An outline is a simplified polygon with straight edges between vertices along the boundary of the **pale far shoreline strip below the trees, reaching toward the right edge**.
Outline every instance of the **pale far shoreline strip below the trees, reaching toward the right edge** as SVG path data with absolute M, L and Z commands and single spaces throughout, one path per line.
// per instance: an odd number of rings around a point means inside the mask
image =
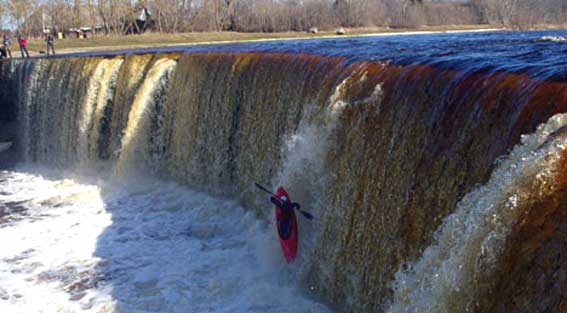
M 533 30 L 560 30 L 561 27 L 543 25 Z M 316 34 L 307 32 L 285 32 L 285 33 L 238 33 L 238 32 L 194 32 L 179 34 L 147 33 L 142 35 L 127 36 L 98 36 L 89 39 L 63 39 L 55 42 L 55 50 L 58 55 L 74 53 L 109 52 L 127 49 L 180 47 L 207 44 L 228 44 L 238 42 L 269 42 L 276 40 L 308 40 L 323 38 L 347 38 L 347 37 L 374 37 L 395 35 L 416 35 L 435 33 L 460 33 L 460 32 L 489 32 L 489 31 L 513 31 L 509 28 L 495 28 L 491 25 L 461 25 L 461 26 L 439 26 L 423 27 L 415 29 L 390 29 L 390 28 L 354 28 L 345 29 L 344 35 L 337 35 L 335 31 L 322 31 Z M 33 57 L 41 57 L 39 51 L 46 50 L 45 44 L 39 39 L 31 39 L 28 49 Z M 17 46 L 12 45 L 12 55 L 19 57 Z

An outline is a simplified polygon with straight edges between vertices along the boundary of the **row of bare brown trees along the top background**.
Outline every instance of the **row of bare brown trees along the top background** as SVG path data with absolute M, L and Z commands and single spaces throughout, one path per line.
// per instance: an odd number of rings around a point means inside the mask
M 567 0 L 0 0 L 3 28 L 28 36 L 79 27 L 124 34 L 566 21 Z

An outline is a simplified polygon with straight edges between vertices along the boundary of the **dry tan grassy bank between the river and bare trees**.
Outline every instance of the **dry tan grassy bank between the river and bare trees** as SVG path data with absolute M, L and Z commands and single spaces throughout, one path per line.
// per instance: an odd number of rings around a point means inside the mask
M 466 31 L 491 28 L 489 25 L 464 25 L 464 26 L 442 26 L 423 27 L 417 29 L 389 29 L 389 28 L 354 28 L 346 29 L 344 36 L 357 36 L 375 33 L 402 33 L 411 31 Z M 173 45 L 190 45 L 198 43 L 214 43 L 227 41 L 249 41 L 270 39 L 293 39 L 293 38 L 322 38 L 335 36 L 335 31 L 320 31 L 316 34 L 306 32 L 285 33 L 238 33 L 238 32 L 194 32 L 180 34 L 145 33 L 143 35 L 128 36 L 96 36 L 88 39 L 66 38 L 55 41 L 55 50 L 59 54 L 107 51 L 125 48 L 161 47 Z M 32 56 L 41 55 L 39 52 L 46 50 L 45 42 L 40 39 L 30 39 L 28 50 Z M 14 57 L 20 55 L 14 39 L 12 44 Z

